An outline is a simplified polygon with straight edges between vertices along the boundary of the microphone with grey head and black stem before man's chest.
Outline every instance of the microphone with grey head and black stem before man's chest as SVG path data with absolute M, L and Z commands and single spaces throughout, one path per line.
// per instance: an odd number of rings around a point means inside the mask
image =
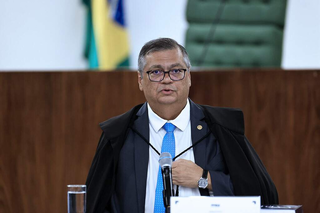
M 163 204 L 166 208 L 166 212 L 170 209 L 170 197 L 173 196 L 174 191 L 172 187 L 172 157 L 169 152 L 163 152 L 159 158 L 159 164 L 161 167 L 162 180 L 163 180 Z

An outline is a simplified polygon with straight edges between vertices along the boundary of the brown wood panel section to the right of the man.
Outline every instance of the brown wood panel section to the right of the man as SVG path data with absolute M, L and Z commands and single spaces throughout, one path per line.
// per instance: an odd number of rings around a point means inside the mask
M 320 72 L 238 71 L 192 75 L 197 103 L 241 108 L 246 135 L 281 204 L 320 212 Z

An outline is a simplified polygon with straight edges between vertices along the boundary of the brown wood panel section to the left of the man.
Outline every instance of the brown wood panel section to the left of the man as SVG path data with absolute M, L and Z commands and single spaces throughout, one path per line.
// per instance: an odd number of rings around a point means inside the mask
M 134 81 L 124 72 L 1 73 L 0 212 L 66 212 L 66 185 L 85 183 L 99 122 L 144 101 Z

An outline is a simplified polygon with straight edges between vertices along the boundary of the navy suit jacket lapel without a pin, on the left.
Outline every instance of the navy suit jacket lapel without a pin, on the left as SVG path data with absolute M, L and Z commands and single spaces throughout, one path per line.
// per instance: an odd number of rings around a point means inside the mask
M 133 128 L 149 141 L 149 119 L 146 103 L 137 113 Z M 149 145 L 137 134 L 134 137 L 135 177 L 138 198 L 138 210 L 144 211 L 146 182 L 149 162 Z

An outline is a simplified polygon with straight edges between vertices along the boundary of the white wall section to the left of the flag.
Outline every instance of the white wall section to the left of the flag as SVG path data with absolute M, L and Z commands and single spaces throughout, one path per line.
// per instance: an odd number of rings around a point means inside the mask
M 3 0 L 0 70 L 84 69 L 81 0 Z

